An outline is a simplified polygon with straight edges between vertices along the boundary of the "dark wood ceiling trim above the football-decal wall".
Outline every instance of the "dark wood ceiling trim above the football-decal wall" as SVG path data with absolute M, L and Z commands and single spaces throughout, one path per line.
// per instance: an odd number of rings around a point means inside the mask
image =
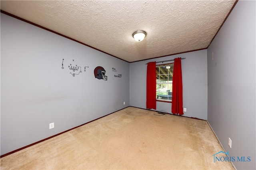
M 15 16 L 15 15 L 13 15 L 13 14 L 8 13 L 8 12 L 5 12 L 5 11 L 3 11 L 3 10 L 0 10 L 0 12 L 3 13 L 3 14 L 6 14 L 6 15 L 8 15 L 8 16 L 11 16 L 11 17 L 13 17 L 13 18 L 16 18 L 16 19 L 18 19 L 18 20 L 24 21 L 24 22 L 26 22 L 26 23 L 28 23 L 28 24 L 32 24 L 32 25 L 34 25 L 34 26 L 37 26 L 37 27 L 39 27 L 39 28 L 42 28 L 42 29 L 44 29 L 44 30 L 47 30 L 47 31 L 52 32 L 52 33 L 54 33 L 54 34 L 57 34 L 57 35 L 59 35 L 59 36 L 62 36 L 62 37 L 64 37 L 64 38 L 68 38 L 69 40 L 72 40 L 72 41 L 74 41 L 74 42 L 78 42 L 78 43 L 80 43 L 80 44 L 82 44 L 82 45 L 85 45 L 85 46 L 87 46 L 87 47 L 90 47 L 90 48 L 92 48 L 92 49 L 96 49 L 97 51 L 100 51 L 100 52 L 102 52 L 102 53 L 111 55 L 112 57 L 116 57 L 116 56 L 114 56 L 114 55 L 112 55 L 112 54 L 109 54 L 109 53 L 106 53 L 106 52 L 104 52 L 104 51 L 102 51 L 102 50 L 100 50 L 100 49 L 94 48 L 94 47 L 92 47 L 92 46 L 90 46 L 90 45 L 87 45 L 87 44 L 85 44 L 85 43 L 82 43 L 82 42 L 80 42 L 80 41 L 77 41 L 77 40 L 75 40 L 75 39 L 73 39 L 73 38 L 70 38 L 70 37 L 68 37 L 68 36 L 64 36 L 63 34 L 60 34 L 60 33 L 58 33 L 58 32 L 55 32 L 55 31 L 53 31 L 53 30 L 50 30 L 50 29 L 48 29 L 48 28 L 45 28 L 45 27 L 43 27 L 43 26 L 40 26 L 40 25 L 38 25 L 38 24 L 35 24 L 35 23 L 33 23 L 33 22 L 30 22 L 30 21 L 28 21 L 28 20 L 25 20 L 25 19 L 23 19 L 23 18 L 20 18 L 20 17 L 18 17 L 18 16 Z M 116 58 L 118 58 L 118 57 L 116 57 Z M 121 59 L 121 58 L 118 58 L 118 59 Z M 124 59 L 121 59 L 121 60 L 126 61 L 126 60 L 124 60 Z M 128 61 L 126 61 L 126 62 L 128 62 Z M 128 62 L 128 63 L 130 63 L 130 62 Z

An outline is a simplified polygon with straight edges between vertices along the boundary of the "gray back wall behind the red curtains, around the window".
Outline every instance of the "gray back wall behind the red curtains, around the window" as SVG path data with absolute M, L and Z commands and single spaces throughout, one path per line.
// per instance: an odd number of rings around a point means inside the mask
M 146 109 L 146 72 L 150 61 L 185 57 L 182 63 L 183 116 L 207 120 L 207 50 L 130 63 L 130 105 Z M 165 62 L 172 63 L 173 61 Z M 161 63 L 157 63 L 161 64 Z M 172 103 L 156 102 L 156 110 L 171 113 Z M 153 110 L 153 109 L 152 109 Z

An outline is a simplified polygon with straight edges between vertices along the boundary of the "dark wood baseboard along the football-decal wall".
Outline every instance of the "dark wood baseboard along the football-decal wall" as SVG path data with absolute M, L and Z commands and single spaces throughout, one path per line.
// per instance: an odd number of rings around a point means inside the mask
M 128 107 L 129 107 L 129 106 L 128 106 Z M 125 108 L 127 108 L 127 107 L 125 107 Z M 123 109 L 125 109 L 125 108 L 123 108 Z M 118 111 L 121 111 L 121 110 L 123 110 L 123 109 L 120 109 L 120 110 L 118 110 Z M 116 112 L 118 112 L 118 111 L 115 111 L 115 112 L 113 112 L 113 113 L 116 113 Z M 112 114 L 112 113 L 109 113 L 108 115 L 111 115 L 111 114 Z M 102 117 L 106 117 L 106 116 L 108 116 L 108 115 L 105 115 L 105 116 L 102 116 Z M 92 121 L 90 121 L 90 122 L 87 122 L 87 123 L 91 123 L 91 122 L 93 122 L 93 121 L 96 121 L 96 120 L 98 120 L 98 119 L 101 119 L 102 117 L 99 117 L 99 118 L 94 119 L 94 120 L 92 120 Z M 40 143 L 40 142 L 43 142 L 43 141 L 45 141 L 45 140 L 48 140 L 48 139 L 53 138 L 53 137 L 55 137 L 55 136 L 58 136 L 58 135 L 60 135 L 60 134 L 66 133 L 66 132 L 68 132 L 68 131 L 70 131 L 70 130 L 73 130 L 73 129 L 75 129 L 75 128 L 78 128 L 78 127 L 81 127 L 81 126 L 83 126 L 83 125 L 86 125 L 87 123 L 84 123 L 84 124 L 79 125 L 79 126 L 77 126 L 77 127 L 74 127 L 74 128 L 68 129 L 68 130 L 65 130 L 65 131 L 60 132 L 60 133 L 58 133 L 58 134 L 54 134 L 53 136 L 50 136 L 50 137 L 48 137 L 48 138 L 39 140 L 38 142 L 34 142 L 34 143 L 29 144 L 29 145 L 27 145 L 27 146 L 24 146 L 24 147 L 22 147 L 22 148 L 18 148 L 18 149 L 16 149 L 16 150 L 13 150 L 13 151 L 11 151 L 11 152 L 8 152 L 8 153 L 6 153 L 6 154 L 3 154 L 3 155 L 0 156 L 0 158 L 2 158 L 2 157 L 4 157 L 4 156 L 7 156 L 7 155 L 10 155 L 10 154 L 13 154 L 14 152 L 18 152 L 18 151 L 20 151 L 20 150 L 22 150 L 22 149 L 28 148 L 28 147 L 30 147 L 30 146 L 33 146 L 33 145 L 35 145 L 35 144 L 38 144 L 38 143 Z

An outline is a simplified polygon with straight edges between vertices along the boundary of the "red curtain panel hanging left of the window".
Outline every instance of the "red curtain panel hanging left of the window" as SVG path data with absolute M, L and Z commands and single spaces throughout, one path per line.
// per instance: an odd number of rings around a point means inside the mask
M 156 61 L 149 62 L 147 67 L 147 105 L 156 110 Z

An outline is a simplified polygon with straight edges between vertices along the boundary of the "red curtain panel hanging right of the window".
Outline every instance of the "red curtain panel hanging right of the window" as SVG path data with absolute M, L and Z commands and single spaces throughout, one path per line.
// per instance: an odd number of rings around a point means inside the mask
M 174 59 L 172 77 L 172 113 L 183 115 L 181 58 Z

